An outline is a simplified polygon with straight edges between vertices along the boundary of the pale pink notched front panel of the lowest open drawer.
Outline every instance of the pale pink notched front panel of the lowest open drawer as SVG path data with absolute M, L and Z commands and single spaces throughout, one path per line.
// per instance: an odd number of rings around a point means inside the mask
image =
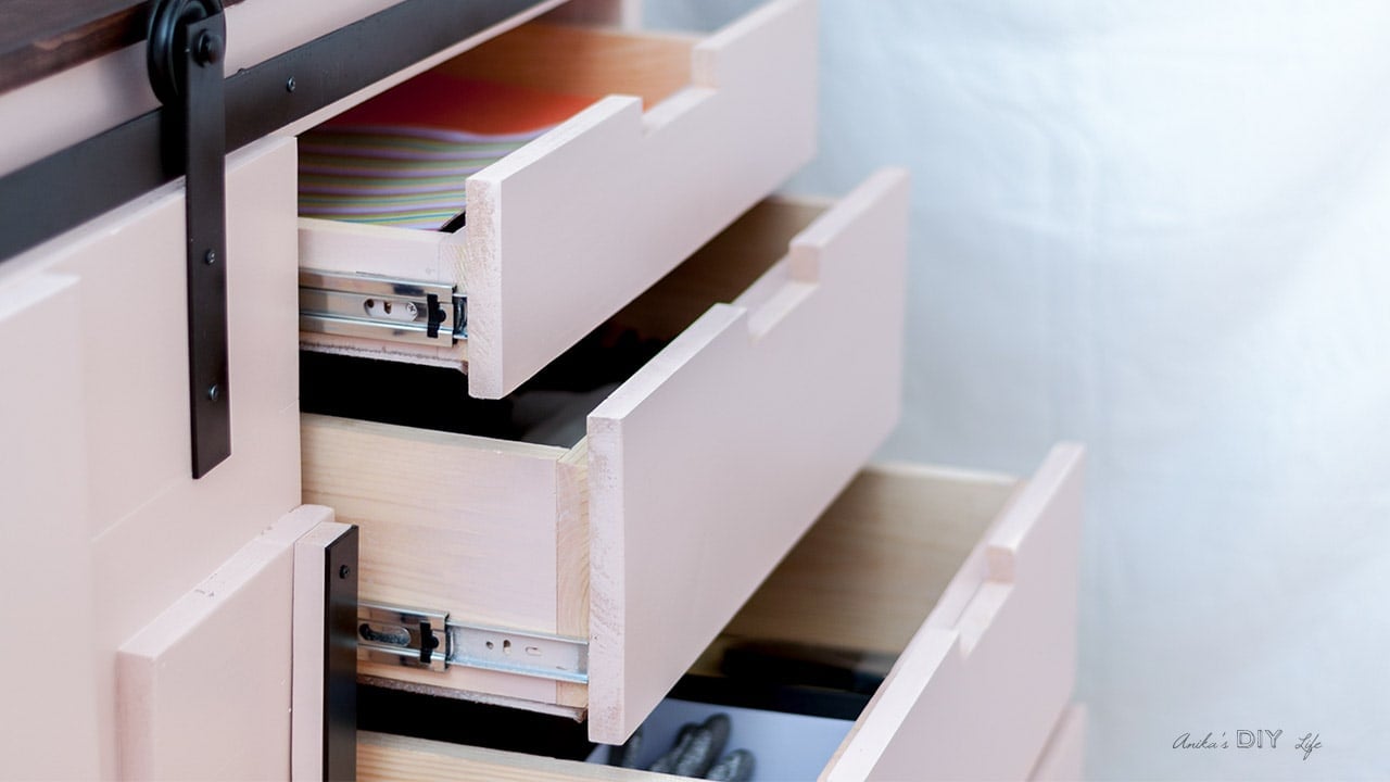
M 1052 449 L 941 594 L 823 779 L 1024 779 L 1072 692 L 1080 445 Z

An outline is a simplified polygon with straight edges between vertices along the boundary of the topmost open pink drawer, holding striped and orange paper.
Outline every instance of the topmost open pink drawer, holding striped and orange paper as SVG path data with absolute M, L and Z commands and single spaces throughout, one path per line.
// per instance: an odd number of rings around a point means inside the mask
M 470 174 L 457 231 L 304 218 L 302 344 L 512 392 L 810 159 L 815 58 L 812 0 L 771 0 L 708 38 L 542 18 L 359 106 L 368 125 L 421 89 L 457 111 L 500 102 L 491 115 L 543 96 L 587 107 Z

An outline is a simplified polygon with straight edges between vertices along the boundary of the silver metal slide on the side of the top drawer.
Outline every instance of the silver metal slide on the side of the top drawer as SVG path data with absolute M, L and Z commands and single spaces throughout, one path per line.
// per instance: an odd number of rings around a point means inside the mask
M 299 270 L 299 328 L 416 345 L 467 337 L 467 298 L 450 285 Z

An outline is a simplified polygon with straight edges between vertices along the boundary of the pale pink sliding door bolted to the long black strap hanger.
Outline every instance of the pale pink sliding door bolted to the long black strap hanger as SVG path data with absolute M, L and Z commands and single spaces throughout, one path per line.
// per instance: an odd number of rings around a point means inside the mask
M 7 761 L 36 774 L 78 761 L 117 774 L 115 650 L 299 505 L 293 139 L 229 156 L 227 205 L 232 455 L 202 480 L 182 184 L 0 264 L 0 557 L 15 561 L 0 584 L 22 596 L 6 600 L 6 628 L 33 639 L 0 651 L 0 682 L 26 714 L 61 708 L 26 725 L 67 747 L 17 739 Z

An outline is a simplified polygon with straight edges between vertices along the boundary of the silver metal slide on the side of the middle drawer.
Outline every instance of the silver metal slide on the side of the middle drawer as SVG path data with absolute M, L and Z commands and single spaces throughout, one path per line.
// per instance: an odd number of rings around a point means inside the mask
M 450 665 L 587 685 L 589 644 L 449 622 L 442 611 L 357 604 L 357 660 L 443 672 Z

